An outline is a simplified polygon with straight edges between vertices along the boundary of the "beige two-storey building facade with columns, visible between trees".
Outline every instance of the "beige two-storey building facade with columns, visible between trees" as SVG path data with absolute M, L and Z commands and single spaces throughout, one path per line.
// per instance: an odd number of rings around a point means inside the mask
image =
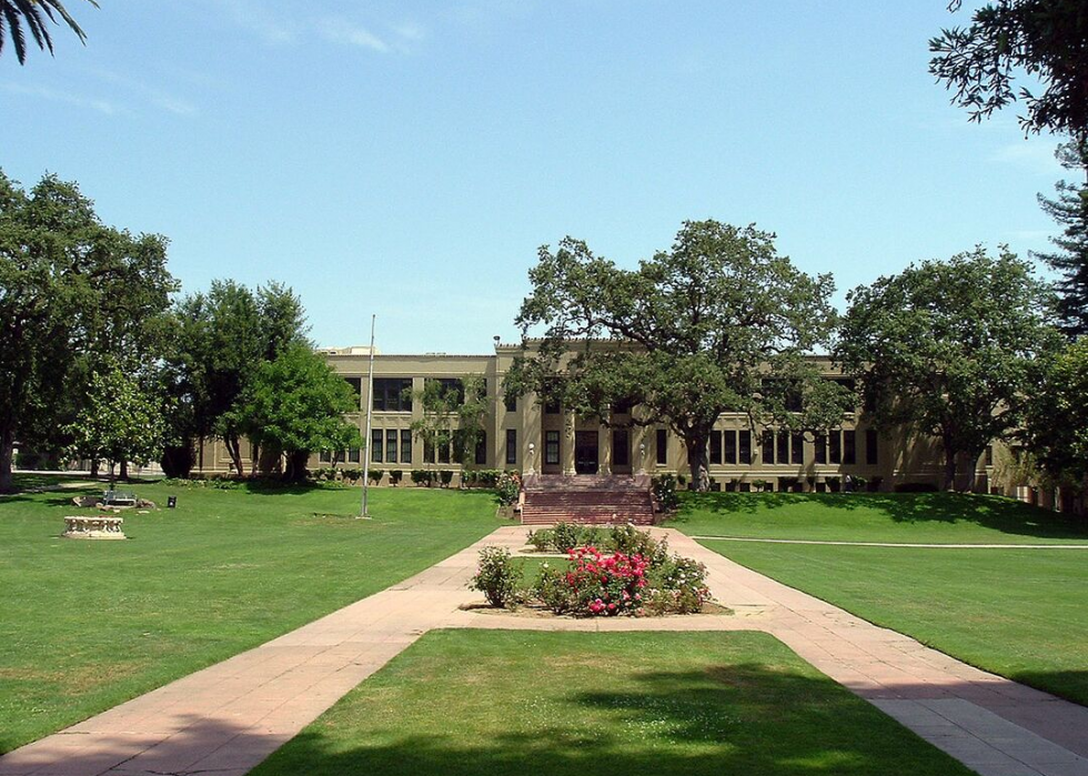
M 410 471 L 422 468 L 452 470 L 454 483 L 464 470 L 688 475 L 684 444 L 665 426 L 610 427 L 576 417 L 562 406 L 542 405 L 535 395 L 507 400 L 503 377 L 522 352 L 521 344 L 496 343 L 494 353 L 486 355 L 375 354 L 371 393 L 369 349 L 322 349 L 330 366 L 360 395 L 359 411 L 350 420 L 364 437 L 366 407 L 373 403 L 372 431 L 366 449 L 316 453 L 310 468 L 357 468 L 367 455 L 371 470 L 401 471 L 405 482 Z M 826 379 L 843 380 L 829 360 L 815 361 Z M 472 462 L 463 466 L 451 462 L 449 451 L 436 451 L 425 460 L 423 445 L 412 432 L 412 424 L 423 416 L 421 403 L 413 396 L 429 380 L 453 382 L 469 375 L 486 381 L 484 439 Z M 614 424 L 629 422 L 629 413 L 637 412 L 637 407 L 614 407 Z M 860 410 L 848 414 L 839 429 L 816 437 L 752 429 L 747 416 L 725 413 L 712 434 L 708 453 L 712 487 L 722 491 L 836 490 L 847 475 L 855 482 L 864 481 L 870 490 L 890 491 L 906 484 L 939 485 L 943 472 L 940 450 L 931 441 L 882 435 L 869 427 Z M 250 466 L 250 462 L 243 463 Z M 198 468 L 203 473 L 228 472 L 230 458 L 223 445 L 206 444 Z M 994 453 L 987 451 L 976 464 L 978 488 L 989 490 L 994 473 Z

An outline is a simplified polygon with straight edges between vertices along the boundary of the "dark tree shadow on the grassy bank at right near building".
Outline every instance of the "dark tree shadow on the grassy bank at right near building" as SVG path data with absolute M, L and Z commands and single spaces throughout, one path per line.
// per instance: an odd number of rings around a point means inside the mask
M 1088 523 L 1082 518 L 1004 496 L 960 493 L 684 493 L 681 508 L 669 523 L 683 524 L 707 513 L 754 514 L 813 507 L 875 511 L 897 523 L 968 522 L 1022 536 L 1088 538 Z M 818 520 L 818 512 L 813 516 Z

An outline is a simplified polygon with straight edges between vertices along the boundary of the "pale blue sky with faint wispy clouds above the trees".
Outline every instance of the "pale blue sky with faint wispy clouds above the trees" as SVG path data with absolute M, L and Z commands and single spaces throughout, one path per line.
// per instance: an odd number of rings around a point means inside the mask
M 515 340 L 536 249 L 621 265 L 755 222 L 838 301 L 976 243 L 1045 249 L 1062 170 L 927 72 L 967 23 L 899 3 L 67 0 L 82 47 L 0 58 L 0 168 L 171 240 L 183 289 L 279 280 L 322 345 Z M 969 4 L 969 3 L 968 3 Z

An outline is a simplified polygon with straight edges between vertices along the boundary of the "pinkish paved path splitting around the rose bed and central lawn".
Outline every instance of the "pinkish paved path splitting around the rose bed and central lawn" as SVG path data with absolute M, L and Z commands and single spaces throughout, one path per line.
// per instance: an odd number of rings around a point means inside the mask
M 503 527 L 382 593 L 0 757 L 0 776 L 241 776 L 434 627 L 767 631 L 825 674 L 984 776 L 1088 776 L 1088 708 L 971 668 L 668 531 L 707 565 L 733 617 L 531 619 L 460 611 Z

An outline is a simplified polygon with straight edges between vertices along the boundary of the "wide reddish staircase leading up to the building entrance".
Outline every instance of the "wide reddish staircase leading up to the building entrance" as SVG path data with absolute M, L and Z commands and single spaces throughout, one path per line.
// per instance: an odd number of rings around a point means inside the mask
M 648 475 L 530 475 L 522 483 L 522 523 L 654 522 Z

